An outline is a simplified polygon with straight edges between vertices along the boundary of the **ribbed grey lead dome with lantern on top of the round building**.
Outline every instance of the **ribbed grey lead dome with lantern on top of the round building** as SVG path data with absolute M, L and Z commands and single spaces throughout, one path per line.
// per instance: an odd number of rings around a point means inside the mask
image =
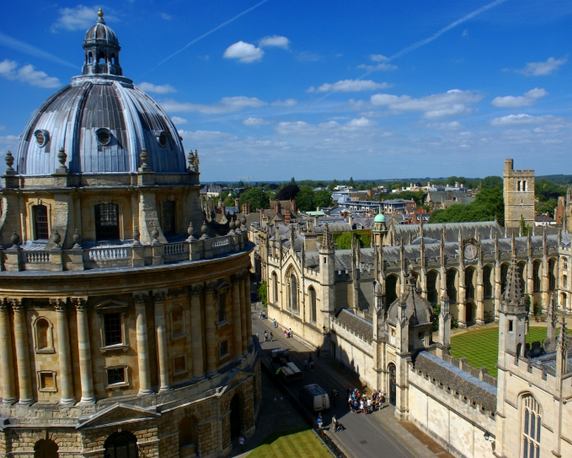
M 72 174 L 134 173 L 147 150 L 150 170 L 186 173 L 182 139 L 163 109 L 123 77 L 119 40 L 103 12 L 83 43 L 83 74 L 32 115 L 15 161 L 19 175 L 51 175 L 60 149 Z

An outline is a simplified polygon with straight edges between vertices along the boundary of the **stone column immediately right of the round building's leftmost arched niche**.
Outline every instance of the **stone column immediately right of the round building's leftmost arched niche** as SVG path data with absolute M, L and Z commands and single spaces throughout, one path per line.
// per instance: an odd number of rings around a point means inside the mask
M 75 397 L 73 392 L 73 373 L 70 354 L 67 299 L 50 299 L 50 304 L 53 305 L 56 309 L 57 316 L 56 329 L 58 342 L 58 359 L 60 361 L 60 404 L 73 405 L 75 404 Z

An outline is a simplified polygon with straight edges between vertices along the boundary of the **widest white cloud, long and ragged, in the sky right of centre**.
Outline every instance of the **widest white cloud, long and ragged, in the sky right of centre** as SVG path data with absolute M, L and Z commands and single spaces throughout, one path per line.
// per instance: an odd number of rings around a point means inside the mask
M 483 95 L 478 92 L 452 89 L 418 99 L 408 95 L 375 94 L 370 101 L 374 106 L 386 106 L 392 112 L 423 111 L 424 118 L 435 119 L 469 114 L 472 111 L 470 104 L 482 98 Z

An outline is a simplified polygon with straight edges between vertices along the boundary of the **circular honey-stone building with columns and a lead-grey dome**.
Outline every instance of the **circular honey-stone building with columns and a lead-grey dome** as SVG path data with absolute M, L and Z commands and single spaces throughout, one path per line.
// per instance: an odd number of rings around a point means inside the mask
M 101 10 L 83 48 L 6 155 L 0 455 L 224 455 L 260 400 L 246 229 L 205 222 L 198 153 Z

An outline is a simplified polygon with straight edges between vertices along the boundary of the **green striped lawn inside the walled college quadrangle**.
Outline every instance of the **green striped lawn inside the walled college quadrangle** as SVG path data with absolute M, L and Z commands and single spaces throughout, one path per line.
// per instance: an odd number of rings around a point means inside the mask
M 556 330 L 558 336 L 559 330 Z M 526 341 L 542 342 L 546 338 L 546 327 L 531 326 Z M 451 337 L 451 354 L 455 358 L 465 357 L 467 362 L 477 368 L 485 366 L 493 377 L 497 376 L 497 357 L 499 351 L 499 328 L 487 327 L 471 330 Z

